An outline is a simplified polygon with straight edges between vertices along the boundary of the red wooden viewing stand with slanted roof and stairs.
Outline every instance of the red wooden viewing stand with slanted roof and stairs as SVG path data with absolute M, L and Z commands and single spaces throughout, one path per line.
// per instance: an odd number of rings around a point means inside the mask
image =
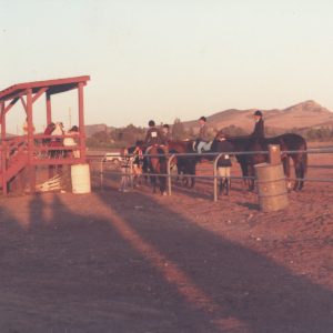
M 62 165 L 85 162 L 85 133 L 84 133 L 84 104 L 83 88 L 90 80 L 89 75 L 65 78 L 47 81 L 27 82 L 11 85 L 0 91 L 0 123 L 1 123 L 1 145 L 0 145 L 0 188 L 7 194 L 9 183 L 23 170 L 29 171 L 30 191 L 36 189 L 36 169 L 38 165 Z M 33 104 L 44 95 L 48 124 L 52 122 L 51 97 L 56 93 L 69 90 L 78 90 L 79 110 L 79 133 L 78 145 L 79 157 L 63 154 L 54 158 L 50 152 L 56 148 L 42 144 L 43 140 L 50 140 L 50 135 L 34 133 L 33 129 Z M 27 114 L 27 134 L 19 137 L 8 137 L 6 130 L 6 118 L 11 108 L 21 102 Z M 52 137 L 53 138 L 53 137 Z M 59 141 L 67 135 L 58 135 Z M 70 151 L 73 148 L 57 147 L 57 150 Z

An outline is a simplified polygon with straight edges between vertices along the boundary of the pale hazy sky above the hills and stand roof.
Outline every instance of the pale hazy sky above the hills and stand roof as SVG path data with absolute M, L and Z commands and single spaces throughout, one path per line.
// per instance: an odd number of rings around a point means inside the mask
M 87 124 L 172 123 L 310 99 L 333 110 L 332 0 L 0 0 L 0 90 L 89 74 Z M 34 111 L 38 128 L 44 123 L 42 107 Z M 12 131 L 21 109 L 12 112 Z M 69 109 L 75 122 L 75 93 L 57 95 L 54 120 L 68 124 Z

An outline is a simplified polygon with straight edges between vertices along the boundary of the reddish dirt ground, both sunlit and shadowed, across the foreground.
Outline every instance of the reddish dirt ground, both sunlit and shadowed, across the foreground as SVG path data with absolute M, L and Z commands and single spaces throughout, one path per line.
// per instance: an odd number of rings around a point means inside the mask
M 214 203 L 205 180 L 172 196 L 94 181 L 0 199 L 0 332 L 332 332 L 333 184 L 263 213 L 240 182 Z

